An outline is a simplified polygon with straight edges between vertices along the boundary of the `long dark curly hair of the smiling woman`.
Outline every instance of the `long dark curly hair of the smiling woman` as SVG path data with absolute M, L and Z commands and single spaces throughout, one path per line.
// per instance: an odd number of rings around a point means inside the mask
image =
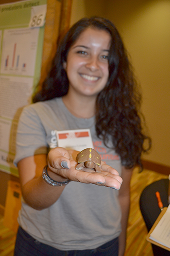
M 141 95 L 122 39 L 114 24 L 101 17 L 84 18 L 75 23 L 60 41 L 51 70 L 33 102 L 62 97 L 68 93 L 68 77 L 63 64 L 70 47 L 88 27 L 105 30 L 111 36 L 109 50 L 109 79 L 96 100 L 96 133 L 105 145 L 112 140 L 126 168 L 139 165 L 141 154 L 151 146 L 151 139 L 142 132 L 139 112 Z M 148 146 L 144 148 L 144 141 Z

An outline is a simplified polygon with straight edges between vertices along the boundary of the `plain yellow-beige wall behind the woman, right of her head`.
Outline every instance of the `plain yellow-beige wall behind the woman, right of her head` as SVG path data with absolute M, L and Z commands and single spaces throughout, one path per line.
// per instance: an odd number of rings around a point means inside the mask
M 91 15 L 116 24 L 132 57 L 153 139 L 144 158 L 170 166 L 170 0 L 73 0 L 71 24 Z

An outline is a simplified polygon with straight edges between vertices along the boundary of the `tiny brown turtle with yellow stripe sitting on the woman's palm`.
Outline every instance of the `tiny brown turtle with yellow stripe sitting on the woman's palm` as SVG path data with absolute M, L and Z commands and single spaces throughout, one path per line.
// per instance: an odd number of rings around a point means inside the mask
M 96 150 L 92 148 L 86 148 L 82 150 L 76 157 L 78 165 L 76 166 L 76 170 L 81 170 L 82 167 L 93 169 L 97 173 L 101 173 L 102 169 L 101 165 L 101 157 L 96 152 Z

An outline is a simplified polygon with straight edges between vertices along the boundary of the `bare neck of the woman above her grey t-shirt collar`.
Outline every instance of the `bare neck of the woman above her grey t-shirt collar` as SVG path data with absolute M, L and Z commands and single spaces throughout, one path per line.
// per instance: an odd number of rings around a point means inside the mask
M 68 111 L 77 118 L 92 118 L 95 115 L 96 99 L 76 98 L 65 95 L 63 102 Z

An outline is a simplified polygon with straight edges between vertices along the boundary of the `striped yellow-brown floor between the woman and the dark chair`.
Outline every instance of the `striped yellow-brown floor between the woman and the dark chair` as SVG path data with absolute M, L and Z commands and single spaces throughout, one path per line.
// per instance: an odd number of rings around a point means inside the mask
M 131 206 L 127 228 L 127 247 L 125 256 L 153 256 L 152 246 L 146 240 L 147 228 L 140 213 L 139 198 L 143 189 L 156 180 L 168 176 L 143 170 L 138 173 L 135 169 L 131 179 Z

